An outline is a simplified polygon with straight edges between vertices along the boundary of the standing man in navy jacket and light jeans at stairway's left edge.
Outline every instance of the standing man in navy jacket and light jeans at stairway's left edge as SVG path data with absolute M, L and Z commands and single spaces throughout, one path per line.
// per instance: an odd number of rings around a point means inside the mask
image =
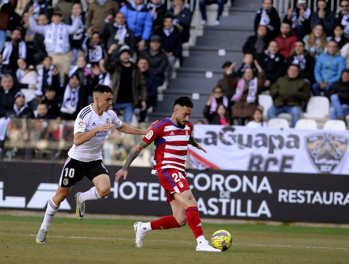
M 161 45 L 165 50 L 167 60 L 169 62 L 166 74 L 166 85 L 170 85 L 174 63 L 180 58 L 182 53 L 182 42 L 180 40 L 180 33 L 176 26 L 173 25 L 173 16 L 166 15 L 164 19 L 164 27 L 158 30 L 156 35 L 161 37 Z

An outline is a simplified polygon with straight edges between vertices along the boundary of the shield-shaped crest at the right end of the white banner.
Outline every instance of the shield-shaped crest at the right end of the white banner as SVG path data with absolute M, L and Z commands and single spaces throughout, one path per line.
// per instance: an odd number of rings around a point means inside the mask
M 319 173 L 331 173 L 346 153 L 348 138 L 331 133 L 305 137 L 307 154 Z

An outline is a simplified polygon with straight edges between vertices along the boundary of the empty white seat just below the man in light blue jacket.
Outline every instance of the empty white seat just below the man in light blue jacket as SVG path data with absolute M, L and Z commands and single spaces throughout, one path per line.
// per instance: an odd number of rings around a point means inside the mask
M 317 119 L 329 117 L 329 100 L 325 96 L 310 97 L 304 118 Z

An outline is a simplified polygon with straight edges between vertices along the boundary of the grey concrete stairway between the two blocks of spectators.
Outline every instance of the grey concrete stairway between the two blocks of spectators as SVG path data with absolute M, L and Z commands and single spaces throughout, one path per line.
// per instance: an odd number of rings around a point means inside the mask
M 214 85 L 223 77 L 223 62 L 236 61 L 240 65 L 242 46 L 247 37 L 254 34 L 253 20 L 261 2 L 248 1 L 249 7 L 244 6 L 245 2 L 235 0 L 229 16 L 222 16 L 219 26 L 203 27 L 202 36 L 196 38 L 195 46 L 189 48 L 189 56 L 184 58 L 183 66 L 177 69 L 177 78 L 171 80 L 170 88 L 159 96 L 156 111 L 149 113 L 149 121 L 170 117 L 173 100 L 179 96 L 189 96 L 193 100 L 192 123 L 205 119 L 202 110 Z

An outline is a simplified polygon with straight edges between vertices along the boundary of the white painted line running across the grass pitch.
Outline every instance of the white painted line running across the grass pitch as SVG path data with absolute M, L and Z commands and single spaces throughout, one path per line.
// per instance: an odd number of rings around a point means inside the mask
M 0 233 L 0 235 L 19 235 L 19 236 L 36 236 L 32 234 L 7 234 L 7 233 Z M 127 238 L 116 238 L 116 237 L 91 237 L 91 236 L 57 236 L 57 235 L 48 235 L 49 237 L 66 237 L 66 238 L 82 238 L 82 239 L 112 239 L 112 240 L 129 240 L 133 241 L 134 239 L 127 239 Z M 158 240 L 158 239 L 147 239 L 148 241 L 157 241 L 157 242 L 166 242 L 168 240 Z M 187 242 L 192 243 L 191 241 L 177 241 L 177 242 Z M 233 245 L 238 246 L 259 246 L 259 247 L 284 247 L 284 248 L 319 248 L 319 249 L 345 249 L 348 250 L 349 248 L 329 248 L 329 247 L 309 247 L 309 246 L 287 246 L 287 245 L 267 245 L 267 244 L 240 244 L 240 243 L 233 243 Z

